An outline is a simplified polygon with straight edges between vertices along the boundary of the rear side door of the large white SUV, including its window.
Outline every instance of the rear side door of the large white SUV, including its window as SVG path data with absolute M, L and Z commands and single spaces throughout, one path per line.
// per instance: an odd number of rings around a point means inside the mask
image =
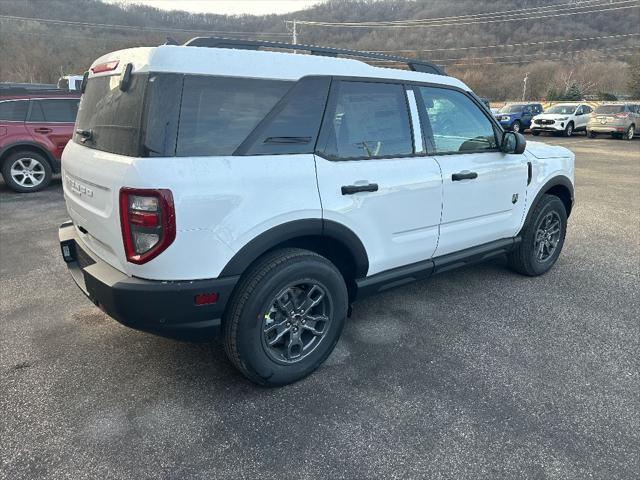
M 442 179 L 435 159 L 425 155 L 412 90 L 334 80 L 316 168 L 323 218 L 360 238 L 369 275 L 433 255 Z

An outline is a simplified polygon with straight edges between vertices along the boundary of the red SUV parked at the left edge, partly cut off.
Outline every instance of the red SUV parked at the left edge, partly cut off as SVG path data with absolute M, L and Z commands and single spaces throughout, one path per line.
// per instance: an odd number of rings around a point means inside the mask
M 0 90 L 0 171 L 8 187 L 35 192 L 49 185 L 79 101 L 79 93 L 59 90 Z

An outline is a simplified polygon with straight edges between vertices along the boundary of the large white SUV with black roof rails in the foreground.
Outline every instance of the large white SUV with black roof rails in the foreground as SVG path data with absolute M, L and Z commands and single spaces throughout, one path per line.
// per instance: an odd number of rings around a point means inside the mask
M 526 275 L 555 263 L 570 151 L 525 148 L 430 64 L 265 47 L 293 49 L 200 38 L 91 67 L 59 236 L 113 318 L 220 332 L 244 375 L 283 385 L 327 358 L 356 298 L 503 254 Z

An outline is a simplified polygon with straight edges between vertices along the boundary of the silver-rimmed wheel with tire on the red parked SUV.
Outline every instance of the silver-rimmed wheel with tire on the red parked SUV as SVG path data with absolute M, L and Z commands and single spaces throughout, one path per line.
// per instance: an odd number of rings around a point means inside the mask
M 20 173 L 24 171 L 26 173 Z M 42 190 L 51 183 L 51 165 L 39 153 L 20 150 L 9 155 L 2 164 L 2 176 L 7 186 L 19 193 Z

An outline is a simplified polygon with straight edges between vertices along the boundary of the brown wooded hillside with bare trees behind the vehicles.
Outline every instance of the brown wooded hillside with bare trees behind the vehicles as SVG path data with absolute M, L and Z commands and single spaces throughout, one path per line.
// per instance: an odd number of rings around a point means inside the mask
M 224 16 L 98 0 L 0 0 L 0 81 L 53 82 L 61 72 L 85 70 L 105 52 L 158 45 L 167 35 L 180 42 L 206 32 L 290 41 L 285 20 L 296 19 L 300 43 L 427 58 L 496 100 L 521 97 L 527 72 L 529 98 L 573 84 L 585 94 L 625 94 L 640 40 L 638 6 L 637 0 L 333 0 L 288 15 Z M 480 15 L 486 12 L 501 13 Z M 408 28 L 362 25 L 406 19 L 441 20 Z

